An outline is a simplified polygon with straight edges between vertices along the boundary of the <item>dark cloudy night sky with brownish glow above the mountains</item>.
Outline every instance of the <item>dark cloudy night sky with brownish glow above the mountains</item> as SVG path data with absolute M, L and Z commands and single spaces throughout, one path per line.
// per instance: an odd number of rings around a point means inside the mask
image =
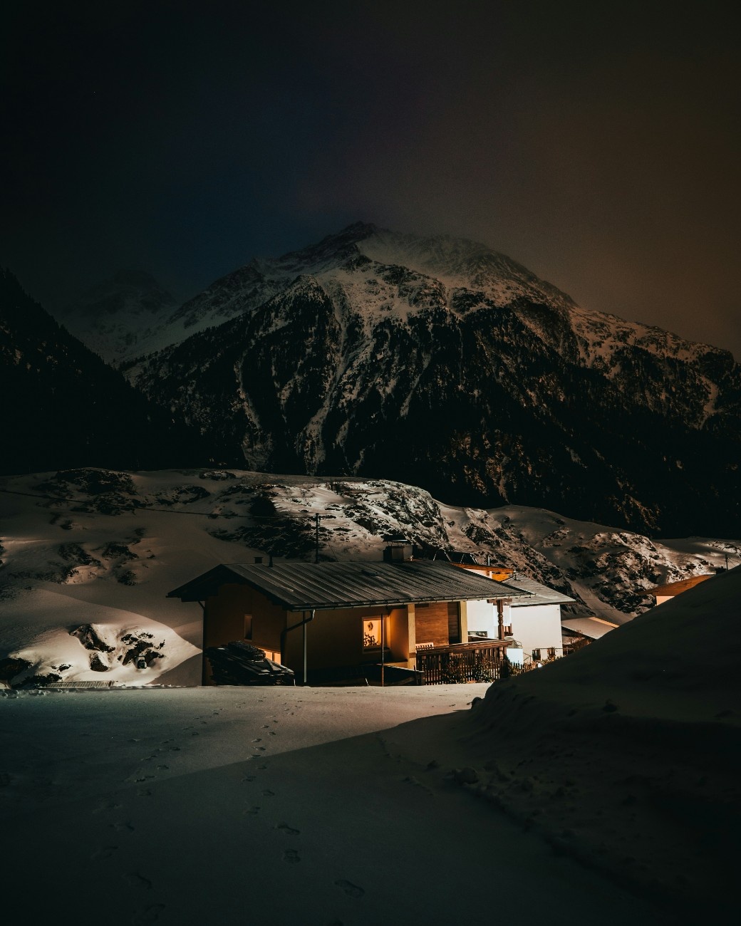
M 64 2 L 2 14 L 0 263 L 185 298 L 356 220 L 470 237 L 741 357 L 722 6 Z

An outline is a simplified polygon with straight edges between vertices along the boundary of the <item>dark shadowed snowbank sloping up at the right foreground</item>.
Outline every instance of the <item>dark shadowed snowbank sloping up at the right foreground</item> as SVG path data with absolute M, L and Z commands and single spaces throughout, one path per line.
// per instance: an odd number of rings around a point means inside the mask
M 737 906 L 739 605 L 732 569 L 492 685 L 467 724 L 486 801 L 558 854 L 664 895 L 672 923 Z

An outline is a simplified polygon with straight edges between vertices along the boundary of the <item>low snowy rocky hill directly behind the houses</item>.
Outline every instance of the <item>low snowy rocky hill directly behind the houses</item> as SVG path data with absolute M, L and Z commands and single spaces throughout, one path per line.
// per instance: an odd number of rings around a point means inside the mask
M 223 469 L 6 477 L 0 672 L 14 658 L 66 681 L 198 684 L 200 613 L 166 594 L 224 562 L 312 559 L 317 515 L 322 559 L 380 560 L 384 538 L 403 532 L 428 553 L 489 556 L 570 594 L 565 612 L 611 624 L 650 607 L 653 585 L 741 560 L 741 541 L 657 543 L 545 509 L 446 506 L 400 482 Z

